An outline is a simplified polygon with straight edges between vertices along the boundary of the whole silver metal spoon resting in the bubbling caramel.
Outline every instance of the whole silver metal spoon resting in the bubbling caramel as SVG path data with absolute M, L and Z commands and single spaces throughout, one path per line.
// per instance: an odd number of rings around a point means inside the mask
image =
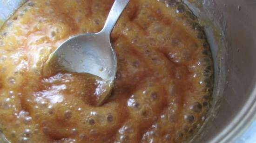
M 116 75 L 117 60 L 110 34 L 130 0 L 115 0 L 103 29 L 98 33 L 80 34 L 69 38 L 58 47 L 48 63 L 57 62 L 61 69 L 89 73 L 106 81 L 97 106 L 108 97 Z

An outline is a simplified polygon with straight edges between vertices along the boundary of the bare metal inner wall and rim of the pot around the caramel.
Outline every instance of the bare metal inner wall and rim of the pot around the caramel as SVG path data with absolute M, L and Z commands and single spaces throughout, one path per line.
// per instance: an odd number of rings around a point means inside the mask
M 0 0 L 0 26 L 24 1 Z M 256 120 L 256 1 L 183 1 L 201 18 L 215 66 L 212 108 L 191 143 L 233 143 Z

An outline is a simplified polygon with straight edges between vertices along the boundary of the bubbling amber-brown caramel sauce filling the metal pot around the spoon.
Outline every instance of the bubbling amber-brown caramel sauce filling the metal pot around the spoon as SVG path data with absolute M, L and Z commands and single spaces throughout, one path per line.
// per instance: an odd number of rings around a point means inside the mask
M 0 132 L 11 143 L 188 141 L 209 110 L 213 66 L 177 1 L 130 1 L 111 34 L 118 72 L 102 106 L 99 79 L 44 67 L 68 37 L 100 31 L 114 0 L 27 1 L 0 30 Z

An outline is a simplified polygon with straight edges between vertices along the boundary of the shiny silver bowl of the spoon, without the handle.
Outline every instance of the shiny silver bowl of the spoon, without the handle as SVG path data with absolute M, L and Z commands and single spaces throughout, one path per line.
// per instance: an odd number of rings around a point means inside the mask
M 109 37 L 103 32 L 71 37 L 55 50 L 59 66 L 67 71 L 89 73 L 104 81 L 115 79 L 117 60 Z

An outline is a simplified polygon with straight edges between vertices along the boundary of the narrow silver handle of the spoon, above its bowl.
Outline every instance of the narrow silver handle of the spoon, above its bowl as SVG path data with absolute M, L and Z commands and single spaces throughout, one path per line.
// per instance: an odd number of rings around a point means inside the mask
M 115 0 L 109 14 L 108 18 L 105 22 L 105 25 L 103 29 L 101 30 L 102 34 L 108 35 L 110 37 L 110 34 L 119 19 L 121 13 L 123 12 L 124 8 L 127 6 L 128 2 L 130 0 Z

